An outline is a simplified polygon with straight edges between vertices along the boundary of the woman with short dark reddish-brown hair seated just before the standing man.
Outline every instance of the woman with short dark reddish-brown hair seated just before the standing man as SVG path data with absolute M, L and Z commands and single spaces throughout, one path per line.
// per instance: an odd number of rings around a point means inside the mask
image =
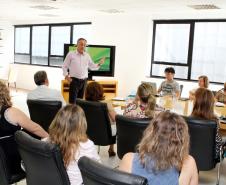
M 112 135 L 113 136 L 116 135 L 116 125 L 115 125 L 116 112 L 113 108 L 112 103 L 110 101 L 105 100 L 102 85 L 97 82 L 90 82 L 86 86 L 85 99 L 88 101 L 97 101 L 97 102 L 99 101 L 107 104 L 108 115 L 111 121 Z M 108 153 L 109 157 L 116 155 L 114 151 L 114 145 L 110 145 Z

